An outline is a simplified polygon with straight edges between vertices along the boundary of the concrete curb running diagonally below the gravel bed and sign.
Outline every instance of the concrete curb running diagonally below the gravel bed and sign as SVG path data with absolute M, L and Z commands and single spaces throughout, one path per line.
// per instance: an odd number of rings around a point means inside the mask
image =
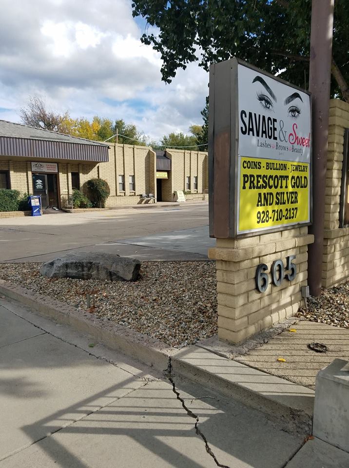
M 91 335 L 108 348 L 153 367 L 168 370 L 239 400 L 283 424 L 285 430 L 311 433 L 314 392 L 288 380 L 196 346 L 181 350 L 107 319 L 0 280 L 0 293 L 55 322 Z

